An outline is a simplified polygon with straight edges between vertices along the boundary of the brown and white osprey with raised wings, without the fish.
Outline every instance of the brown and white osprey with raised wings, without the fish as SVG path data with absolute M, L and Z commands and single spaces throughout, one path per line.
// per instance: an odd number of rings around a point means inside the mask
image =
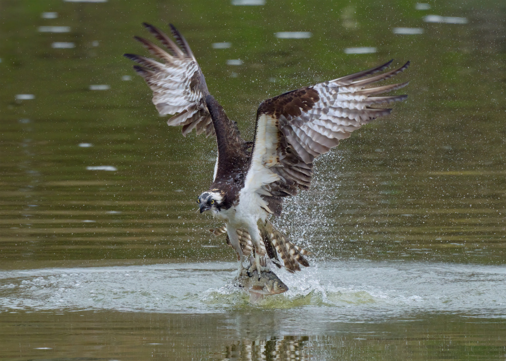
M 292 244 L 269 221 L 281 214 L 286 197 L 307 190 L 313 177 L 313 161 L 348 138 L 352 131 L 371 120 L 390 114 L 392 109 L 371 105 L 402 101 L 406 95 L 377 96 L 408 83 L 366 87 L 402 72 L 385 70 L 392 62 L 316 85 L 302 87 L 262 102 L 257 111 L 255 138 L 244 141 L 223 107 L 209 94 L 204 75 L 187 41 L 170 24 L 176 40 L 152 25 L 143 24 L 167 49 L 135 36 L 163 63 L 139 55 L 124 56 L 137 62 L 134 69 L 153 91 L 153 104 L 160 115 L 177 114 L 168 125 L 183 126 L 183 136 L 197 134 L 216 137 L 218 157 L 213 183 L 198 197 L 200 213 L 209 212 L 225 222 L 210 230 L 227 233 L 227 243 L 237 253 L 240 277 L 243 256 L 255 255 L 248 272 L 267 267 L 270 258 L 294 272 L 300 264 L 309 266 L 306 250 Z

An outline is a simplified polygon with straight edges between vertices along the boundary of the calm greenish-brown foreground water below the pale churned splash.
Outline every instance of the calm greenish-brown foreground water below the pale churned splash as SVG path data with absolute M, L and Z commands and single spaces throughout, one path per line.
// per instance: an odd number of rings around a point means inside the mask
M 281 317 L 280 317 L 281 313 Z M 279 311 L 223 315 L 69 312 L 0 315 L 8 359 L 504 359 L 504 322 L 418 314 L 280 330 Z M 23 321 L 19 321 L 19 319 Z M 135 325 L 135 326 L 134 326 Z M 257 328 L 255 328 L 257 327 Z M 46 330 L 40 335 L 40 330 Z M 31 339 L 31 342 L 19 342 Z M 65 358 L 72 359 L 72 358 Z

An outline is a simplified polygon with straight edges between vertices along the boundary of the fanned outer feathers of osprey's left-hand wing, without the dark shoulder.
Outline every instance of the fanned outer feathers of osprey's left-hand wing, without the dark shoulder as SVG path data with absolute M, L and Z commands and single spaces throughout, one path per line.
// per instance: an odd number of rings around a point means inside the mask
M 214 135 L 213 122 L 205 104 L 205 96 L 209 94 L 207 85 L 185 38 L 172 24 L 172 34 L 178 44 L 156 27 L 147 23 L 143 25 L 167 48 L 168 52 L 142 37 L 134 38 L 163 63 L 134 54 L 124 56 L 142 65 L 136 65 L 134 69 L 153 91 L 153 104 L 158 113 L 160 115 L 179 113 L 170 118 L 167 124 L 182 125 L 183 136 L 193 129 L 197 134 L 205 132 L 206 137 Z

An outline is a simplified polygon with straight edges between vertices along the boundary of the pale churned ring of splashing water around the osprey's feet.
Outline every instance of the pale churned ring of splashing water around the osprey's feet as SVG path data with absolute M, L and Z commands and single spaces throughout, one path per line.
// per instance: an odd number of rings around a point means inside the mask
M 504 314 L 500 266 L 366 261 L 322 262 L 297 274 L 276 270 L 289 290 L 257 304 L 229 281 L 228 262 L 0 272 L 0 309 L 223 312 L 322 309 L 358 319 L 412 311 Z M 316 307 L 316 308 L 315 308 Z

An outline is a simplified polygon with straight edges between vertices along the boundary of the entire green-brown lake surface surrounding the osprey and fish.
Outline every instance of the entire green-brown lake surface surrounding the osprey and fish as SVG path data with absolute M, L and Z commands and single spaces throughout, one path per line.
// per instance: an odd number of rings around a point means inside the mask
M 498 3 L 2 1 L 0 358 L 504 360 Z M 167 127 L 122 57 L 143 21 L 180 29 L 246 139 L 266 98 L 411 61 L 409 98 L 275 220 L 313 252 L 276 272 L 288 292 L 230 284 L 195 213 L 215 143 Z

